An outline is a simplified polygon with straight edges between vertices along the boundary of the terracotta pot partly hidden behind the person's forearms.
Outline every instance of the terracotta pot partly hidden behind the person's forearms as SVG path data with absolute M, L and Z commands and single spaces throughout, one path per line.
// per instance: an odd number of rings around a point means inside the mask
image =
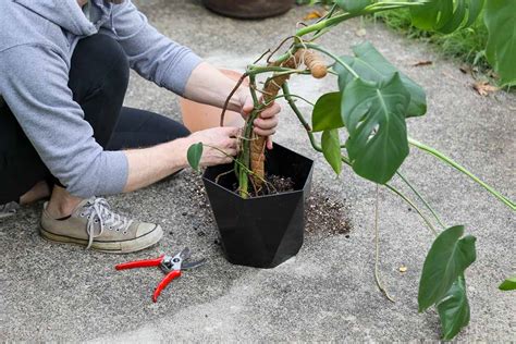
M 242 73 L 231 70 L 220 70 L 232 81 L 236 82 L 241 78 Z M 248 85 L 246 82 L 243 85 Z M 180 97 L 180 107 L 183 115 L 183 124 L 191 132 L 198 132 L 209 127 L 220 125 L 220 114 L 222 109 L 207 106 L 200 102 L 195 102 Z M 244 120 L 238 112 L 225 111 L 224 126 L 244 126 Z

